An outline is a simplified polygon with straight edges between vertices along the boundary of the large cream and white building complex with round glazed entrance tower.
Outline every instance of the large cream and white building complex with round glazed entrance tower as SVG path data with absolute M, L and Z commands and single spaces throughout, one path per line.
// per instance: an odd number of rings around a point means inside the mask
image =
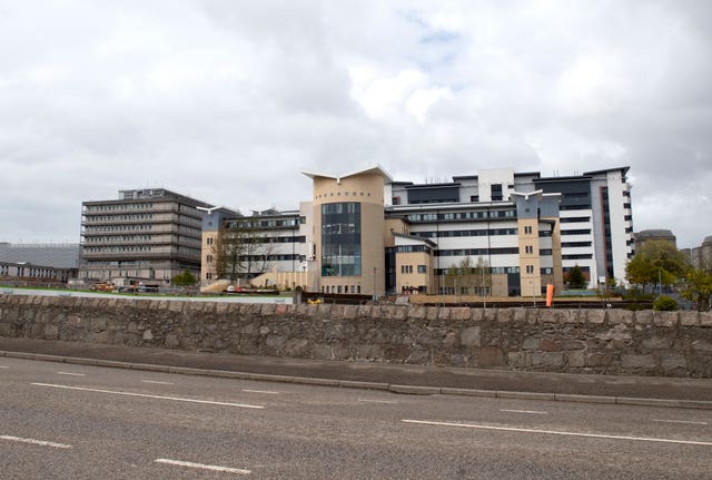
M 220 227 L 267 222 L 260 224 L 266 237 L 287 248 L 271 258 L 273 274 L 306 271 L 297 284 L 325 294 L 538 296 L 548 284 L 564 288 L 574 266 L 591 287 L 606 277 L 624 282 L 633 253 L 626 173 L 542 177 L 497 168 L 414 184 L 394 180 L 379 166 L 343 175 L 305 172 L 313 197 L 299 212 L 207 213 L 202 280 L 215 275 L 206 266 Z

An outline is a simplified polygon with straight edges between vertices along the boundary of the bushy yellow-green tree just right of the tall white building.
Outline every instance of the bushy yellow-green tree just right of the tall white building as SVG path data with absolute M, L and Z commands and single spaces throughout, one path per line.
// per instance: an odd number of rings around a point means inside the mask
M 649 241 L 625 266 L 625 277 L 635 285 L 672 285 L 689 268 L 685 256 L 668 241 Z

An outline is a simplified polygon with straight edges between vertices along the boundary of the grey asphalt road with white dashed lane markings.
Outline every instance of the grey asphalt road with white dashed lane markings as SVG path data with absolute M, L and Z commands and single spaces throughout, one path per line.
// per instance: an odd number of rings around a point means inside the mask
M 709 479 L 709 410 L 0 359 L 2 479 Z

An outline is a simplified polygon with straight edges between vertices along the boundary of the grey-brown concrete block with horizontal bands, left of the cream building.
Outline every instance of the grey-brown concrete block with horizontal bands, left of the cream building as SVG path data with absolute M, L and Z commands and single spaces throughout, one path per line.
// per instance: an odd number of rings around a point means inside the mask
M 82 203 L 80 278 L 135 278 L 166 285 L 188 270 L 200 276 L 201 217 L 211 205 L 165 189 L 119 190 Z

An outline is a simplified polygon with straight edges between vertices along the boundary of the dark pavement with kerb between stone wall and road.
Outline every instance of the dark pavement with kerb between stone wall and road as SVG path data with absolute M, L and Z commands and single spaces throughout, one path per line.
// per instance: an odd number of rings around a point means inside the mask
M 623 376 L 318 361 L 0 337 L 0 357 L 192 375 L 387 390 L 404 394 L 712 410 L 712 379 Z

